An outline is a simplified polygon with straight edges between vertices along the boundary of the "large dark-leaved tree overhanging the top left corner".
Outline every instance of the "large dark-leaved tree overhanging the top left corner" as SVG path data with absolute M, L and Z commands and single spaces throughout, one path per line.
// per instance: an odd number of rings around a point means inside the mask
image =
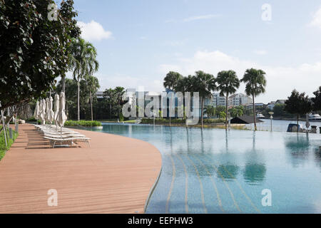
M 0 100 L 2 108 L 27 103 L 52 90 L 68 71 L 70 39 L 80 34 L 73 1 L 61 1 L 56 21 L 52 0 L 0 1 Z

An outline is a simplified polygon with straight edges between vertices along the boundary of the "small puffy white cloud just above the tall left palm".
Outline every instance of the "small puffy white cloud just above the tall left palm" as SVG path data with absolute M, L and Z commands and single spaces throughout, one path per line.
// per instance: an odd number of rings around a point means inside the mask
M 111 31 L 105 31 L 103 26 L 96 21 L 84 23 L 78 21 L 78 26 L 81 28 L 81 37 L 88 41 L 101 41 L 112 37 Z

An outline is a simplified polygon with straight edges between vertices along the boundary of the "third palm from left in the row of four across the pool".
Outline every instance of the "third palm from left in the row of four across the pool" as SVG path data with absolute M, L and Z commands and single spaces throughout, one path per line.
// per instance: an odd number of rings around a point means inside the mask
M 225 129 L 228 129 L 228 96 L 235 93 L 240 87 L 240 80 L 236 75 L 235 71 L 220 71 L 218 73 L 218 78 L 216 78 L 218 83 L 218 90 L 220 90 L 220 95 L 225 95 Z

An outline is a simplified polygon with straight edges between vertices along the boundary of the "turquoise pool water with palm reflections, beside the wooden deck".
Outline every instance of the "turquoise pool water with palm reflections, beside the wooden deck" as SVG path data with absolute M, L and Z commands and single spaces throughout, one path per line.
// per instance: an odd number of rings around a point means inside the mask
M 119 124 L 96 131 L 161 151 L 147 213 L 321 213 L 321 135 Z

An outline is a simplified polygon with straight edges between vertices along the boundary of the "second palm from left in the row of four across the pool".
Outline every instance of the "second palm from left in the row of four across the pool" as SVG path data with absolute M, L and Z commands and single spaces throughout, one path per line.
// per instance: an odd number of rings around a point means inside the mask
M 196 71 L 193 77 L 193 92 L 199 92 L 200 94 L 200 116 L 203 128 L 203 116 L 204 116 L 204 101 L 212 95 L 212 91 L 216 90 L 215 78 L 209 73 L 203 71 Z

